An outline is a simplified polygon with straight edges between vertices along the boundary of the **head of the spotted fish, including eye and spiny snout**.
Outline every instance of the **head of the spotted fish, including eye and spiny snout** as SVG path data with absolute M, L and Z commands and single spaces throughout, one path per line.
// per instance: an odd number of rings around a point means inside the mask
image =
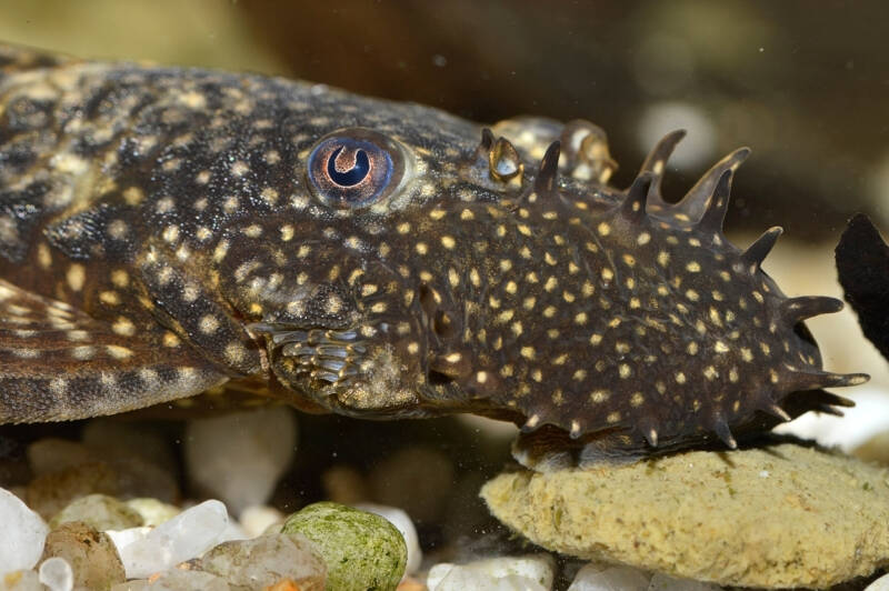
M 787 299 L 761 270 L 780 229 L 747 250 L 722 234 L 746 150 L 669 204 L 676 136 L 618 190 L 591 123 L 495 128 L 512 141 L 439 123 L 323 134 L 297 213 L 232 239 L 244 254 L 227 260 L 254 261 L 231 269 L 240 307 L 290 391 L 350 415 L 475 412 L 638 450 L 733 447 L 730 425 L 787 420 L 789 394 L 865 379 L 822 371 L 802 324 L 839 302 Z

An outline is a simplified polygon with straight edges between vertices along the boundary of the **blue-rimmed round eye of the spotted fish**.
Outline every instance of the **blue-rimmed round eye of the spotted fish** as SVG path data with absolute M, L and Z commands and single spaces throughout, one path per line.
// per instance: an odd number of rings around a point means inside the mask
M 349 209 L 376 203 L 398 187 L 401 150 L 386 136 L 363 128 L 324 136 L 309 153 L 309 184 L 327 206 Z

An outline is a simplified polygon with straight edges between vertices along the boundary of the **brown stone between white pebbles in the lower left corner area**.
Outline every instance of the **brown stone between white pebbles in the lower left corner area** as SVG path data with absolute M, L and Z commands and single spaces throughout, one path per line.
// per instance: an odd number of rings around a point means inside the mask
M 107 533 L 78 521 L 62 523 L 47 535 L 43 559 L 64 559 L 73 570 L 74 587 L 108 589 L 123 582 L 123 564 Z

